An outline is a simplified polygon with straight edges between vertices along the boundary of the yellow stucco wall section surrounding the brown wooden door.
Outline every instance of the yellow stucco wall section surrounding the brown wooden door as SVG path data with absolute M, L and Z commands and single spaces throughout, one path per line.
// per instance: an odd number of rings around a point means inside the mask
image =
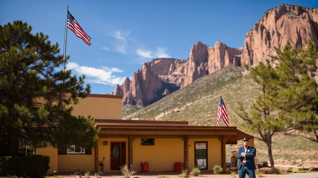
M 108 142 L 103 145 L 103 142 Z M 99 138 L 98 139 L 98 160 L 104 159 L 104 172 L 110 172 L 110 143 L 111 142 L 126 142 L 126 164 L 128 165 L 128 139 L 127 138 Z

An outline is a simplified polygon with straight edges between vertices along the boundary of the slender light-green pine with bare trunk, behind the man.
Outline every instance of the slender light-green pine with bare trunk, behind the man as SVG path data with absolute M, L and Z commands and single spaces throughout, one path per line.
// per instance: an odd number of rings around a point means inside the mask
M 261 62 L 255 68 L 247 67 L 247 69 L 250 71 L 252 80 L 257 84 L 255 88 L 260 94 L 250 105 L 249 112 L 245 110 L 242 102 L 238 103 L 235 109 L 240 117 L 238 125 L 260 136 L 258 139 L 266 143 L 271 167 L 274 167 L 272 137 L 286 130 L 291 123 L 291 120 L 281 117 L 273 101 L 277 95 L 276 81 L 279 76 L 269 61 L 266 64 Z

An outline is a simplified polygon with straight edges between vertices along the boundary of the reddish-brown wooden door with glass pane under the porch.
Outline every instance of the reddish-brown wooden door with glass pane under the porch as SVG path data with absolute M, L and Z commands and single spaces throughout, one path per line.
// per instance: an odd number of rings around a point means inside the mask
M 120 170 L 121 142 L 110 143 L 110 170 Z

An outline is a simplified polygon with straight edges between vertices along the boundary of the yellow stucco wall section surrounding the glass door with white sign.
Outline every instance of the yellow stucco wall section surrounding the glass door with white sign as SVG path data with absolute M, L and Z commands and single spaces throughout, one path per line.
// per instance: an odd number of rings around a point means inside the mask
M 221 165 L 221 142 L 215 139 L 189 139 L 189 170 L 194 168 L 194 142 L 208 142 L 208 171 L 211 171 L 214 165 Z

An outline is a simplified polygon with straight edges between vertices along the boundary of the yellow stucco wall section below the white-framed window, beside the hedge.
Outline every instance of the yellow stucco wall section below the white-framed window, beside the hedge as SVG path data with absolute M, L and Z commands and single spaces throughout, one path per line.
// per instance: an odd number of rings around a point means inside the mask
M 94 148 L 92 148 L 92 155 L 58 155 L 59 173 L 77 172 L 77 169 L 82 172 L 95 172 L 94 156 Z

